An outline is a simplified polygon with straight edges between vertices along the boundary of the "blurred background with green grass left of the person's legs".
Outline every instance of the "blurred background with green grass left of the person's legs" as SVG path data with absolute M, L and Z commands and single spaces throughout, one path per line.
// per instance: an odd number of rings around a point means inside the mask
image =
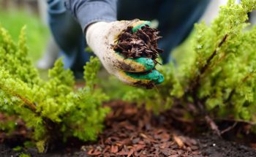
M 0 0 L 0 25 L 7 28 L 15 41 L 26 26 L 29 56 L 37 64 L 50 37 L 46 3 L 43 0 Z

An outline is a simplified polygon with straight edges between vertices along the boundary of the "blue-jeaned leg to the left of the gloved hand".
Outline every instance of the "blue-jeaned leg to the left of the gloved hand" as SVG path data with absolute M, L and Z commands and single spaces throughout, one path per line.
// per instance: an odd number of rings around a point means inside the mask
M 89 61 L 85 52 L 86 41 L 79 23 L 64 7 L 63 0 L 48 1 L 50 30 L 64 54 L 65 68 L 83 72 L 83 65 Z

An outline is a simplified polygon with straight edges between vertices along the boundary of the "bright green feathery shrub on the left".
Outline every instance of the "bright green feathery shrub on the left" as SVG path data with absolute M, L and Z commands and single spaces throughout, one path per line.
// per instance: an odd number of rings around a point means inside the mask
M 61 59 L 50 69 L 49 80 L 45 82 L 27 54 L 25 27 L 17 45 L 7 30 L 0 27 L 0 112 L 23 119 L 33 129 L 31 138 L 37 141 L 40 152 L 52 140 L 97 139 L 109 110 L 102 107 L 102 101 L 108 97 L 94 88 L 99 60 L 91 58 L 86 64 L 86 86 L 76 90 L 74 76 L 63 68 Z

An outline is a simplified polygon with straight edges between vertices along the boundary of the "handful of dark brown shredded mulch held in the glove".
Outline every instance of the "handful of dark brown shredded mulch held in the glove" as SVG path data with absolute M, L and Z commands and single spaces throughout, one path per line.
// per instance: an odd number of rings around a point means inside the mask
M 159 31 L 148 25 L 133 32 L 132 26 L 118 35 L 117 45 L 113 50 L 120 53 L 124 58 L 151 58 L 157 64 L 156 59 L 163 50 L 158 48 L 157 39 L 160 39 Z

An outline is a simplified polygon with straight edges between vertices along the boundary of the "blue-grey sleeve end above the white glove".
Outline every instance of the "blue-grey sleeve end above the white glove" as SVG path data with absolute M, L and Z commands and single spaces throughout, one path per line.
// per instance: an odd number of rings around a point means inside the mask
M 117 0 L 66 0 L 65 6 L 85 31 L 89 24 L 98 21 L 114 21 Z

